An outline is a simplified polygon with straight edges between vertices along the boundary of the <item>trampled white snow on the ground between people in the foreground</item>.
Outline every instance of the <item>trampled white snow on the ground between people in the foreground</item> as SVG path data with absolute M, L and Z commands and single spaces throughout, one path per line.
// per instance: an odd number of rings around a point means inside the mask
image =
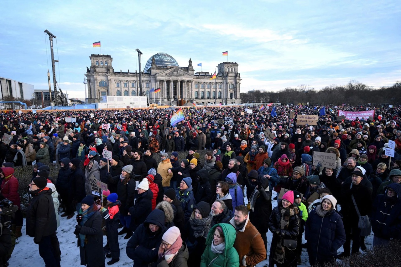
M 276 196 L 277 193 L 273 191 L 273 197 Z M 246 201 L 246 198 L 245 198 Z M 272 200 L 273 208 L 277 206 L 277 201 Z M 79 248 L 77 247 L 77 238 L 73 234 L 75 230 L 75 225 L 77 224 L 75 220 L 75 216 L 69 220 L 66 217 L 60 218 L 61 225 L 57 229 L 57 237 L 60 242 L 61 249 L 61 267 L 76 267 L 80 265 L 79 258 Z M 120 229 L 121 230 L 121 229 Z M 109 266 L 118 267 L 118 266 L 133 266 L 133 261 L 128 258 L 125 248 L 127 246 L 128 240 L 124 239 L 125 235 L 119 236 L 119 245 L 120 245 L 120 261 Z M 267 233 L 267 255 L 269 255 L 270 244 L 271 244 L 272 234 L 271 232 Z M 302 243 L 306 241 L 302 239 Z M 103 245 L 107 242 L 106 237 L 103 237 Z M 369 249 L 372 247 L 373 243 L 373 233 L 366 237 L 365 244 Z M 341 253 L 343 248 L 341 247 L 338 250 L 338 253 Z M 361 251 L 362 252 L 362 251 Z M 299 267 L 308 267 L 309 258 L 306 249 L 302 249 L 302 264 L 298 265 Z M 106 262 L 110 259 L 106 258 Z M 31 266 L 45 266 L 43 259 L 39 256 L 38 245 L 33 242 L 32 237 L 28 237 L 25 233 L 25 220 L 24 227 L 22 227 L 22 237 L 18 238 L 16 241 L 14 252 L 12 253 L 11 259 L 9 260 L 10 267 L 19 267 L 26 266 L 30 263 Z M 268 266 L 269 263 L 267 260 L 262 261 L 257 266 L 264 267 Z M 106 264 L 106 266 L 108 266 Z

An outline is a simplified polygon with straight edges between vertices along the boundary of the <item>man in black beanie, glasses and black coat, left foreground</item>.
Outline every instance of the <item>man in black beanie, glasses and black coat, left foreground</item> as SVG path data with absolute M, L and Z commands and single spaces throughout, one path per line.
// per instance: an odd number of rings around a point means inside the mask
M 47 266 L 60 266 L 60 247 L 57 239 L 56 212 L 52 190 L 44 177 L 36 177 L 29 184 L 32 200 L 26 212 L 26 234 L 39 245 L 39 255 Z M 85 191 L 84 191 L 85 192 Z

